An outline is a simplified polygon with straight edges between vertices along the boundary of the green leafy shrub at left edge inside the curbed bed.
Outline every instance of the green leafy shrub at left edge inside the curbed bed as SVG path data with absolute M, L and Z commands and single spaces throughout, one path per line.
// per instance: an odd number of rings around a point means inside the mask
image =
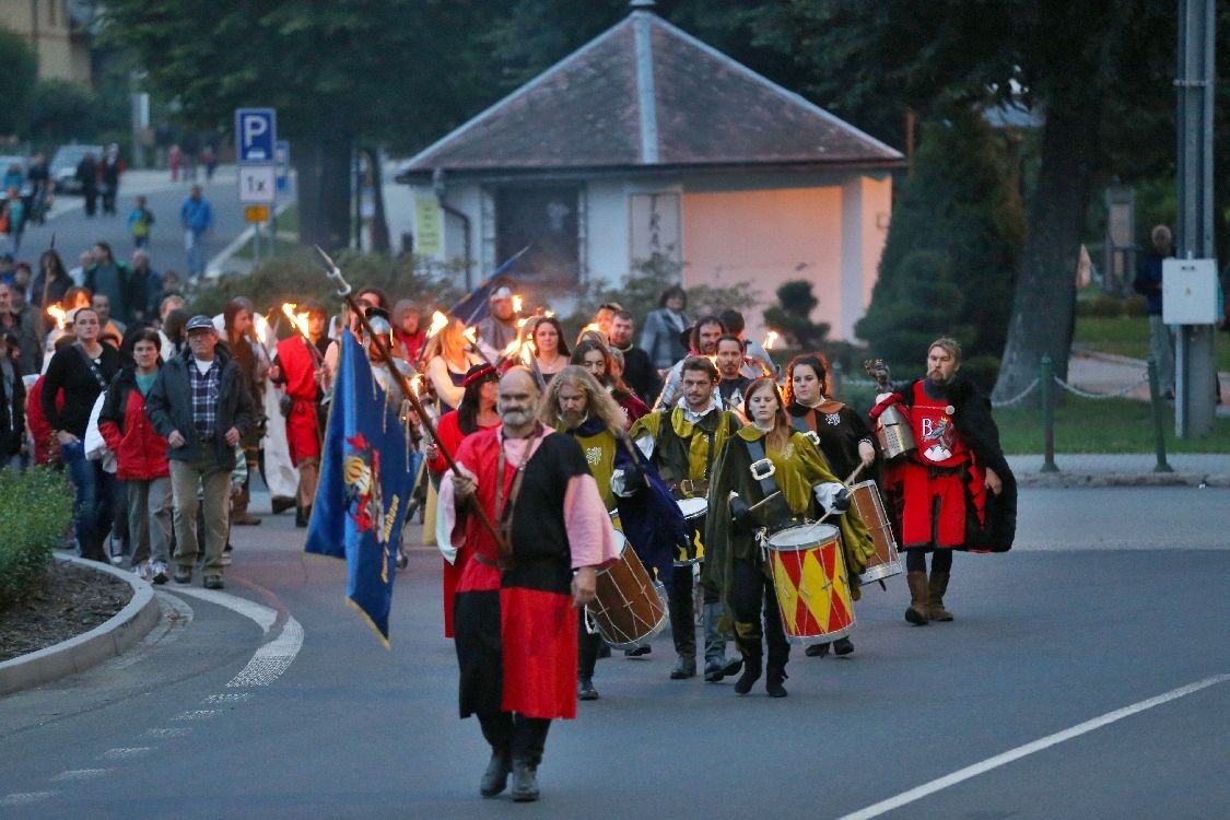
M 21 600 L 52 563 L 73 515 L 63 473 L 0 470 L 0 610 Z

